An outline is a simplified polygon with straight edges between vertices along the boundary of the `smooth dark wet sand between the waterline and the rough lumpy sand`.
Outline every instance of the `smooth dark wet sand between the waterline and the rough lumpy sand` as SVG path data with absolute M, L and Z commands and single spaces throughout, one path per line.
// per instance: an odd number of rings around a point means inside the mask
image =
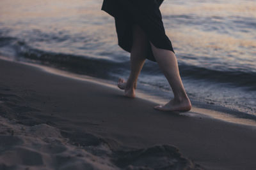
M 156 145 L 175 146 L 205 169 L 256 166 L 255 127 L 195 116 L 206 110 L 180 115 L 156 111 L 156 103 L 127 99 L 112 85 L 50 74 L 28 64 L 0 59 L 0 71 L 1 117 L 16 124 L 51 125 L 76 145 L 99 143 L 88 135 L 93 134 L 111 150 L 153 147 L 156 152 Z

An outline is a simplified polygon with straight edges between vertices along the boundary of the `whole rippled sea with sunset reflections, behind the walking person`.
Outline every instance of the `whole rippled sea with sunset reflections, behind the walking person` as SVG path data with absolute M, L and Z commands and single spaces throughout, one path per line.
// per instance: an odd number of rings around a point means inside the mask
M 129 75 L 102 0 L 0 4 L 0 55 L 111 81 Z M 189 97 L 256 117 L 256 2 L 165 0 L 160 9 Z M 155 62 L 145 63 L 138 89 L 172 97 Z

